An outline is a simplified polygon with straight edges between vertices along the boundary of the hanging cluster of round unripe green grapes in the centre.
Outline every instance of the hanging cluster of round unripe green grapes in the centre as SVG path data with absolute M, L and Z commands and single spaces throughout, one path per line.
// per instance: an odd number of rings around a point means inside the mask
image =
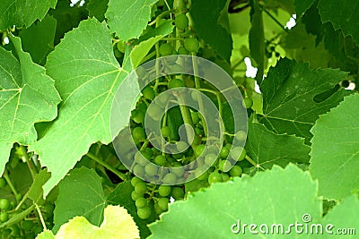
M 161 6 L 161 9 L 164 5 Z M 156 45 L 156 57 L 169 55 L 206 55 L 206 45 L 197 39 L 196 32 L 192 29 L 190 15 L 188 13 L 188 4 L 183 0 L 175 0 L 173 3 L 175 10 L 174 25 L 175 30 L 168 39 L 162 40 Z M 160 21 L 158 21 L 160 22 Z M 121 45 L 122 46 L 122 45 Z M 118 51 L 120 49 L 118 48 Z M 176 67 L 176 57 L 168 60 L 166 65 Z M 136 70 L 137 74 L 142 77 L 145 73 L 141 69 Z M 196 88 L 201 90 L 213 90 L 206 85 L 206 81 L 196 82 L 193 76 L 180 74 L 171 75 L 171 77 L 161 77 L 160 79 L 147 84 L 142 90 L 142 97 L 138 100 L 136 108 L 131 112 L 130 128 L 132 139 L 138 149 L 131 158 L 133 164 L 131 171 L 134 176 L 131 178 L 133 192 L 131 198 L 136 204 L 137 215 L 139 218 L 147 219 L 158 217 L 163 211 L 168 209 L 170 201 L 182 200 L 187 192 L 186 185 L 182 184 L 183 178 L 191 178 L 193 182 L 200 184 L 214 184 L 228 181 L 231 177 L 241 176 L 243 172 L 243 159 L 246 158 L 246 150 L 240 146 L 232 144 L 233 140 L 244 141 L 247 139 L 247 133 L 239 131 L 236 133 L 227 133 L 223 145 L 208 145 L 206 136 L 206 123 L 203 115 L 197 110 L 187 107 L 181 109 L 183 121 L 188 113 L 188 123 L 193 128 L 193 141 L 188 145 L 185 141 L 180 141 L 176 134 L 179 128 L 169 122 L 176 120 L 173 115 L 162 112 L 165 111 L 167 102 L 180 96 L 171 98 L 161 98 L 162 92 L 166 90 L 176 90 L 180 87 Z M 206 90 L 205 90 L 206 91 Z M 198 92 L 197 92 L 198 93 Z M 215 92 L 216 94 L 216 92 Z M 176 98 L 177 97 L 177 98 Z M 200 98 L 196 91 L 192 91 L 191 98 L 197 100 Z M 154 100 L 159 100 L 157 103 Z M 151 110 L 149 107 L 151 105 Z M 251 98 L 243 98 L 242 106 L 251 108 L 253 101 Z M 145 132 L 144 119 L 145 115 L 150 116 L 153 120 L 161 122 L 162 135 L 147 135 Z M 170 153 L 153 147 L 149 137 L 163 137 L 167 143 L 175 143 L 178 152 Z M 167 144 L 163 145 L 165 148 Z M 164 149 L 163 148 L 163 149 Z M 231 160 L 228 160 L 231 158 Z M 185 170 L 183 166 L 194 162 L 192 168 Z M 152 164 L 151 164 L 151 163 Z M 245 165 L 245 164 L 244 164 Z M 171 171 L 165 169 L 171 167 Z M 153 183 L 147 183 L 142 178 L 148 179 Z M 188 180 L 189 181 L 189 180 Z

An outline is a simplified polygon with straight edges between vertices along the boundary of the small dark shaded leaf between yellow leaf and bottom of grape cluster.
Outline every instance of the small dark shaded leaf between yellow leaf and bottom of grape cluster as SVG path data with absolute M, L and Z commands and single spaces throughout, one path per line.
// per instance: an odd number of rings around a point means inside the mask
M 148 229 L 147 225 L 152 223 L 156 216 L 154 212 L 152 213 L 151 217 L 148 219 L 141 219 L 138 218 L 137 215 L 137 208 L 135 201 L 131 198 L 131 192 L 134 191 L 134 187 L 131 185 L 130 181 L 123 182 L 118 184 L 118 186 L 109 193 L 106 198 L 108 204 L 111 205 L 121 205 L 125 209 L 127 209 L 128 213 L 134 218 L 138 229 L 140 230 L 141 238 L 146 238 L 150 235 L 150 230 Z

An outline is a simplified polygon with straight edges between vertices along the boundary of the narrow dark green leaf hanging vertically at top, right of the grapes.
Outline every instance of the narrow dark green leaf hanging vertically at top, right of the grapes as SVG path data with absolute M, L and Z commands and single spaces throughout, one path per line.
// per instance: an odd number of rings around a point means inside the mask
M 250 0 L 250 55 L 257 63 L 258 72 L 256 80 L 258 84 L 262 82 L 264 74 L 264 56 L 265 56 L 265 38 L 262 10 L 259 7 L 258 0 Z

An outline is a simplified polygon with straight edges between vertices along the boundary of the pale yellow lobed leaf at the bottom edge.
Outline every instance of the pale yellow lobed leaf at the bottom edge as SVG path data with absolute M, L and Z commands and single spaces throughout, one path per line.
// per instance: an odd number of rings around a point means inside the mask
M 104 214 L 104 220 L 100 227 L 93 226 L 86 218 L 75 217 L 61 226 L 56 236 L 46 231 L 36 238 L 135 239 L 139 237 L 138 228 L 126 209 L 108 206 Z

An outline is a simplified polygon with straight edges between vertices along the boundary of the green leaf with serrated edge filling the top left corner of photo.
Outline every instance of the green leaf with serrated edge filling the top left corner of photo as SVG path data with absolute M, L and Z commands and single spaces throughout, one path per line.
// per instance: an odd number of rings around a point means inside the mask
M 30 27 L 37 19 L 42 20 L 48 9 L 55 8 L 57 0 L 3 0 L 0 4 L 0 30 Z

